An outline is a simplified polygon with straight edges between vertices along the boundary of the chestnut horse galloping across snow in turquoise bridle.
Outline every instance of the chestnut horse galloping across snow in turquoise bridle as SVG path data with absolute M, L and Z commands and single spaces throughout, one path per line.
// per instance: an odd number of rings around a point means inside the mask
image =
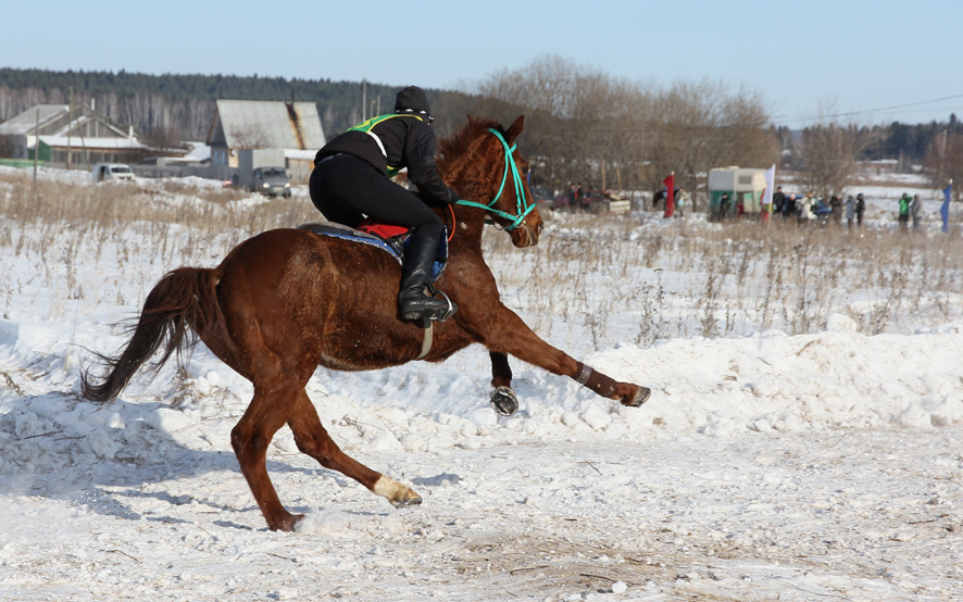
M 523 124 L 524 115 L 508 129 L 468 116 L 461 131 L 439 140 L 439 173 L 462 200 L 435 209 L 452 220 L 454 233 L 448 265 L 436 284 L 460 310 L 432 325 L 427 353 L 425 325 L 398 315 L 401 273 L 393 258 L 370 246 L 280 228 L 240 242 L 217 267 L 179 267 L 163 276 L 120 352 L 96 354 L 100 376 L 92 374 L 92 365 L 82 369 L 84 397 L 110 402 L 155 353 L 162 353 L 154 362 L 159 369 L 175 352 L 179 361 L 202 341 L 254 387 L 230 443 L 267 527 L 282 531 L 304 517 L 284 507 L 267 475 L 267 447 L 285 424 L 298 449 L 322 466 L 395 506 L 422 501 L 410 487 L 349 457 L 332 440 L 305 391 L 318 365 L 367 371 L 417 359 L 441 362 L 480 343 L 489 351 L 492 404 L 501 413 L 511 413 L 514 400 L 508 355 L 625 405 L 641 405 L 651 394 L 648 388 L 616 381 L 548 344 L 499 299 L 481 253 L 486 221 L 503 228 L 516 248 L 536 244 L 543 227 L 523 179 L 528 163 L 515 145 Z M 510 174 L 514 186 L 506 187 Z

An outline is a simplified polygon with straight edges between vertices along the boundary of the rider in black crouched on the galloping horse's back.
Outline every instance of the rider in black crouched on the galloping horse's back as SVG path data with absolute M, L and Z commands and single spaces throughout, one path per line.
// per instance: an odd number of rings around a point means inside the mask
M 395 114 L 357 125 L 317 151 L 311 174 L 311 201 L 329 222 L 353 228 L 367 215 L 412 228 L 398 293 L 402 319 L 445 319 L 458 311 L 454 303 L 425 291 L 445 231 L 441 218 L 388 179 L 408 167 L 408 178 L 425 201 L 451 204 L 459 199 L 435 164 L 434 121 L 425 92 L 409 86 L 396 96 Z

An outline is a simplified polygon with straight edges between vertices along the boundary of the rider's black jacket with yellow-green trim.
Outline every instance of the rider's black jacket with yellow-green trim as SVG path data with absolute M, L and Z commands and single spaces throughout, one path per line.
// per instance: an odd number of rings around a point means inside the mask
M 398 114 L 376 123 L 368 131 L 349 129 L 337 136 L 317 151 L 314 162 L 316 165 L 325 156 L 348 153 L 364 159 L 386 176 L 389 167 L 408 167 L 408 179 L 428 200 L 450 204 L 459 197 L 441 181 L 435 163 L 435 131 L 425 117 Z

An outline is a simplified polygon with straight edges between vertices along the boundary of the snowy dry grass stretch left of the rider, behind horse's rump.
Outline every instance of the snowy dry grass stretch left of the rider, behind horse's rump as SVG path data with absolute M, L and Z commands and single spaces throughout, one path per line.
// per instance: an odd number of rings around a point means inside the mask
M 136 308 L 164 272 L 216 265 L 253 234 L 317 216 L 304 199 L 188 183 L 41 178 L 35 188 L 29 172 L 0 171 L 0 316 L 48 302 L 51 315 L 64 314 L 80 299 Z M 124 283 L 103 280 L 118 269 Z M 137 299 L 125 297 L 132 281 Z

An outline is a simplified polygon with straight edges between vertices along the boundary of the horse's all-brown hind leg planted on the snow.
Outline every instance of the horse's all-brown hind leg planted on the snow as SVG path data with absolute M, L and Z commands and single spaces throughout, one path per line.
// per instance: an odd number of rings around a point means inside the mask
M 293 411 L 297 393 L 279 388 L 267 394 L 266 390 L 272 387 L 254 387 L 254 399 L 230 431 L 230 444 L 267 527 L 273 531 L 290 531 L 304 515 L 293 515 L 282 505 L 267 476 L 266 461 L 267 446 Z

